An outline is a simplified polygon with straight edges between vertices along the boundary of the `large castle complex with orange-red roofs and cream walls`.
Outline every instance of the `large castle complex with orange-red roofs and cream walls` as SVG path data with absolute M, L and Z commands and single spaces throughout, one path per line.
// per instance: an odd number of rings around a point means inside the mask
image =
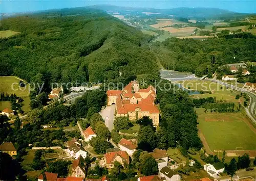
M 108 105 L 116 105 L 116 117 L 129 116 L 130 120 L 148 116 L 154 126 L 159 125 L 159 109 L 155 105 L 156 89 L 148 86 L 140 89 L 137 81 L 132 81 L 123 90 L 108 90 Z

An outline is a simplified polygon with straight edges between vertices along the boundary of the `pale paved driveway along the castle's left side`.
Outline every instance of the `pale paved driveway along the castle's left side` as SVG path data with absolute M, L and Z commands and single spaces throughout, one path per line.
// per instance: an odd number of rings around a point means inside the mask
M 109 128 L 110 132 L 114 129 L 116 105 L 106 106 L 105 109 L 101 110 L 100 115 L 105 121 L 106 127 Z

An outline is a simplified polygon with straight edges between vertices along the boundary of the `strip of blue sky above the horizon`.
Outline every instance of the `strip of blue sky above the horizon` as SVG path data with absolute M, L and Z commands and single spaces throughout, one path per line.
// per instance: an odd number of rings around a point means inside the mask
M 256 13 L 256 0 L 0 0 L 0 13 L 61 9 L 103 4 L 156 9 L 210 7 L 242 13 Z

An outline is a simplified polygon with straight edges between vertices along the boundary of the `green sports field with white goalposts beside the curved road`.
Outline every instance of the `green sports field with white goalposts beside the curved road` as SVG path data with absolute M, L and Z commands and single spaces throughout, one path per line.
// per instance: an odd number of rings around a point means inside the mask
M 243 113 L 203 113 L 196 109 L 199 130 L 213 150 L 256 150 L 256 128 Z M 202 138 L 201 138 L 202 140 Z

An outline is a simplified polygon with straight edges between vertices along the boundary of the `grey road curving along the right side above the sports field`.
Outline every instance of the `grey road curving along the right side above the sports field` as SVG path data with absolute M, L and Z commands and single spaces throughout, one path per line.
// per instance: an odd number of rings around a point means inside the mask
M 202 77 L 203 78 L 203 77 Z M 162 79 L 166 79 L 168 81 L 187 81 L 187 80 L 202 80 L 202 78 L 198 78 L 196 76 L 187 76 L 187 77 L 183 77 L 183 78 L 165 78 L 162 77 Z M 237 90 L 243 93 L 246 93 L 249 97 L 250 97 L 250 104 L 248 106 L 248 108 L 245 108 L 246 114 L 248 115 L 248 117 L 254 122 L 256 123 L 256 94 L 253 92 L 248 91 L 247 89 L 243 89 L 243 88 L 239 88 L 227 83 L 224 83 L 222 81 L 218 81 L 218 80 L 213 80 L 213 79 L 205 79 L 206 81 L 211 81 L 211 82 L 216 82 L 220 85 L 223 85 L 225 87 L 231 88 L 233 90 Z

